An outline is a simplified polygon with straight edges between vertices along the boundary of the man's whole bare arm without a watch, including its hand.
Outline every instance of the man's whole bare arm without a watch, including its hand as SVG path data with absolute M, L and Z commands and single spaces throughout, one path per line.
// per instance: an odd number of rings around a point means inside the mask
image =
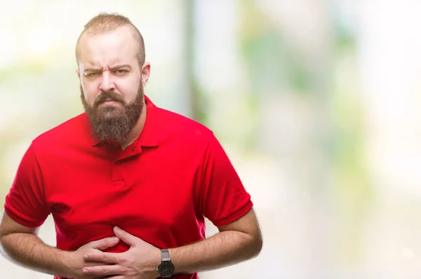
M 118 240 L 113 240 L 113 238 L 104 238 L 83 245 L 74 252 L 67 252 L 46 245 L 36 236 L 37 231 L 38 228 L 22 226 L 3 212 L 0 219 L 0 253 L 15 264 L 34 271 L 68 278 L 78 276 L 81 278 L 82 267 L 87 264 L 83 260 L 84 253 L 98 252 L 100 249 L 106 249 L 118 243 Z

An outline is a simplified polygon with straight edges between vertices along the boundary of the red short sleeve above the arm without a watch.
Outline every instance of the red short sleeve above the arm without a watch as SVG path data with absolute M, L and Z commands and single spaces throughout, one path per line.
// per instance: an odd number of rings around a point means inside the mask
M 41 170 L 32 144 L 20 161 L 4 210 L 15 222 L 29 227 L 41 226 L 48 217 Z

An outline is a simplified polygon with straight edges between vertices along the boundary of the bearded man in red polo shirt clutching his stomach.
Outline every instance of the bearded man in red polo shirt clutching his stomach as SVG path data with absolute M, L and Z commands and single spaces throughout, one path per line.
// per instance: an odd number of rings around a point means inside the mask
M 76 61 L 86 113 L 27 149 L 6 196 L 2 254 L 76 279 L 198 278 L 259 254 L 250 195 L 213 132 L 144 95 L 151 66 L 128 18 L 88 22 Z M 57 247 L 36 236 L 49 214 Z M 219 229 L 210 238 L 205 217 Z

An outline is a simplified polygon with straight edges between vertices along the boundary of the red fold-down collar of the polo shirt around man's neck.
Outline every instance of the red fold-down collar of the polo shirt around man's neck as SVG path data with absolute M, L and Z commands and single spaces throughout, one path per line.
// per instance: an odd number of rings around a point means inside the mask
M 145 125 L 138 139 L 134 144 L 137 147 L 157 147 L 159 145 L 159 110 L 156 105 L 145 95 L 145 102 L 147 106 L 147 115 Z M 85 113 L 86 120 L 88 121 L 89 141 L 92 147 L 97 146 L 102 141 L 95 140 L 91 134 L 91 124 L 89 123 L 88 115 Z

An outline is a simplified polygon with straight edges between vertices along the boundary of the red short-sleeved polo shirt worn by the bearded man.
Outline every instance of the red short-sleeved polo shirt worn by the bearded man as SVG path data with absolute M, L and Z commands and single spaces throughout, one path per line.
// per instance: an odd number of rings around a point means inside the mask
M 205 238 L 253 206 L 213 132 L 147 100 L 145 128 L 131 146 L 94 142 L 86 114 L 37 137 L 6 196 L 7 214 L 24 226 L 53 215 L 57 247 L 76 250 L 114 236 L 114 226 L 159 248 Z M 110 252 L 124 252 L 120 242 Z M 176 275 L 175 278 L 197 278 Z

